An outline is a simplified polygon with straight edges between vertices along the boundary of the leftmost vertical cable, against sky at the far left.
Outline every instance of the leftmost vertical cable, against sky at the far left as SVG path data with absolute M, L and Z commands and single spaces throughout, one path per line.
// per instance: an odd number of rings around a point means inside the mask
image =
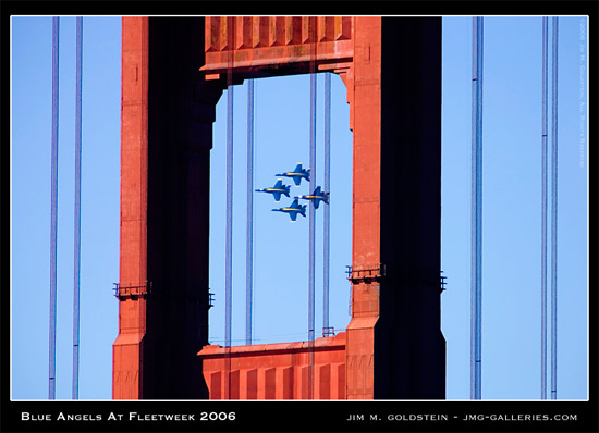
M 48 399 L 56 398 L 57 372 L 57 223 L 58 223 L 58 86 L 59 30 L 58 16 L 52 18 L 52 136 L 51 136 L 51 205 L 50 205 L 50 342 Z

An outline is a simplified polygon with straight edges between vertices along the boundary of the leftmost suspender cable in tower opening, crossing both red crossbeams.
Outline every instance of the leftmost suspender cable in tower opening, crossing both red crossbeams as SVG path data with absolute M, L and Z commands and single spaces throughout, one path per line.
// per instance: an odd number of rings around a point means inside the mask
M 228 17 L 228 37 L 234 40 L 234 18 Z M 225 399 L 231 398 L 231 310 L 232 299 L 232 253 L 233 253 L 233 44 L 229 51 L 227 71 L 227 227 L 224 245 L 224 346 L 227 350 Z

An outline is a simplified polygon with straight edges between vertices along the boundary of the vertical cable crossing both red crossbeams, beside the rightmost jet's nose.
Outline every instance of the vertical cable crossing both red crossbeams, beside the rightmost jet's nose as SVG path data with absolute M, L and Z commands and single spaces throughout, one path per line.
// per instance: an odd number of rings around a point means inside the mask
M 310 59 L 310 181 L 309 194 L 316 188 L 316 23 L 315 17 L 308 17 L 308 29 L 313 41 Z M 309 257 L 308 257 L 308 399 L 314 398 L 314 301 L 315 301 L 315 234 L 316 234 L 316 209 L 314 201 L 309 205 Z

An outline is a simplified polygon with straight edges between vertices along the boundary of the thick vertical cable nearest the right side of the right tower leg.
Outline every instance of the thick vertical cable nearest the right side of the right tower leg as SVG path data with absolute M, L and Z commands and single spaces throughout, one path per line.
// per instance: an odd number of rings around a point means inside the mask
M 470 398 L 481 398 L 482 17 L 473 17 Z

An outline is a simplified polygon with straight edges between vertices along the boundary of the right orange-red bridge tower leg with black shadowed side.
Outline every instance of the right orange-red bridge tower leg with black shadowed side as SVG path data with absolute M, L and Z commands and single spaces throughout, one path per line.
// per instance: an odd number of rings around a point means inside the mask
M 353 66 L 347 398 L 442 399 L 441 18 L 355 18 Z

